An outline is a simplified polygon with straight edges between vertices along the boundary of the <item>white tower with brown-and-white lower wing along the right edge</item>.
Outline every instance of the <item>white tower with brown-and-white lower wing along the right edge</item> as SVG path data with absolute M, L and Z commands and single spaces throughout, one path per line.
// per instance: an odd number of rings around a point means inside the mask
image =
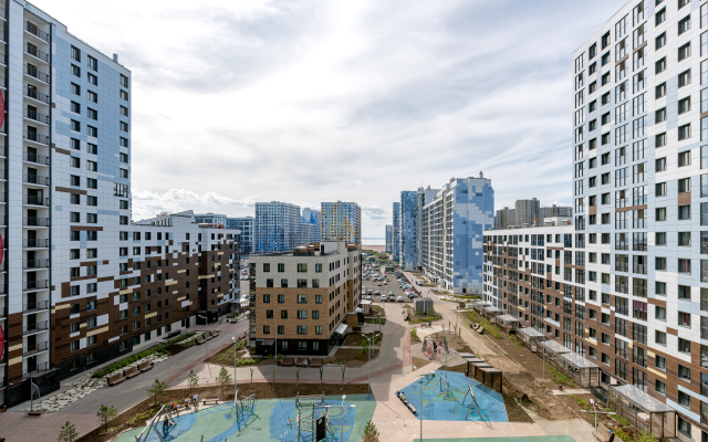
M 486 232 L 485 296 L 683 441 L 708 438 L 706 41 L 705 1 L 614 13 L 573 53 L 574 227 Z

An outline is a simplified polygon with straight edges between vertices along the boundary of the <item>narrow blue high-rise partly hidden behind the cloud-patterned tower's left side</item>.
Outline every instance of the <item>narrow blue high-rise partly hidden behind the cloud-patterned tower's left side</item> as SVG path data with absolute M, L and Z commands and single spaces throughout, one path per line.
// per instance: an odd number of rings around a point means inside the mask
M 438 193 L 439 189 L 418 188 L 418 190 L 404 190 L 400 192 L 399 214 L 399 265 L 403 270 L 420 270 L 423 267 L 423 249 L 420 239 L 423 235 L 423 207 Z

